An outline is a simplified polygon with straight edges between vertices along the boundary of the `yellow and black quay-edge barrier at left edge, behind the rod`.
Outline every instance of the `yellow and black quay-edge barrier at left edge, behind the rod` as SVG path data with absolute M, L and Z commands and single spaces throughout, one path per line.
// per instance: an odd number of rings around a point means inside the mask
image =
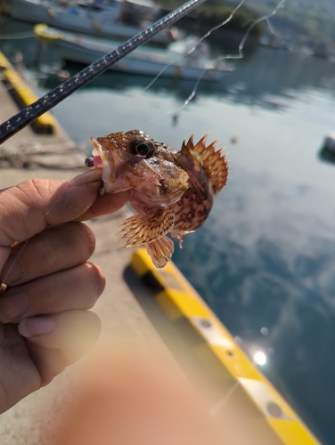
M 25 84 L 24 80 L 13 69 L 11 63 L 0 52 L 0 70 L 5 81 L 12 86 L 10 93 L 19 102 L 20 108 L 25 108 L 37 101 L 36 94 Z M 46 112 L 32 123 L 32 127 L 38 134 L 57 134 L 57 123 L 50 112 Z

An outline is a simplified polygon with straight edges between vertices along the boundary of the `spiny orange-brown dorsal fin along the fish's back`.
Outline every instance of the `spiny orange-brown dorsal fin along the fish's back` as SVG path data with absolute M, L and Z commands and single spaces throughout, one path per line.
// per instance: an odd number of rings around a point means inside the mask
M 187 143 L 185 143 L 185 141 L 183 142 L 182 153 L 184 156 L 192 158 L 195 163 L 198 163 L 205 170 L 212 184 L 214 194 L 217 195 L 225 186 L 225 182 L 227 182 L 229 171 L 228 162 L 225 159 L 226 155 L 221 156 L 224 149 L 215 150 L 218 140 L 206 147 L 208 134 L 205 134 L 205 136 L 194 145 L 193 133 Z

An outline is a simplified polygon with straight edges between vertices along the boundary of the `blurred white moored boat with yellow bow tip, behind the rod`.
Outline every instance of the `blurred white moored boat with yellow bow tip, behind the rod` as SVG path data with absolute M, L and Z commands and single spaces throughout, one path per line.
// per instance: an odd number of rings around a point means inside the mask
M 75 61 L 89 65 L 117 49 L 119 43 L 88 36 L 60 32 L 46 25 L 35 27 L 37 38 L 52 44 L 62 61 Z M 121 61 L 110 67 L 112 70 L 155 77 L 181 79 L 220 80 L 232 67 L 223 62 L 208 59 L 204 44 L 190 53 L 190 40 L 169 44 L 167 49 L 137 48 Z M 184 49 L 183 49 L 184 48 Z

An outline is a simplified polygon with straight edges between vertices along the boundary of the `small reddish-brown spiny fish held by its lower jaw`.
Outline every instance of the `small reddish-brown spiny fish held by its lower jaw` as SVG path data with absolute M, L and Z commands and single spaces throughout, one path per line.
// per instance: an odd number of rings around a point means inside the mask
M 141 130 L 90 138 L 93 158 L 86 166 L 102 168 L 101 193 L 132 190 L 128 204 L 135 215 L 121 224 L 125 247 L 145 245 L 156 267 L 174 252 L 167 232 L 179 239 L 205 223 L 217 193 L 227 181 L 228 165 L 217 141 L 206 147 L 206 134 L 193 135 L 180 151 L 156 142 Z

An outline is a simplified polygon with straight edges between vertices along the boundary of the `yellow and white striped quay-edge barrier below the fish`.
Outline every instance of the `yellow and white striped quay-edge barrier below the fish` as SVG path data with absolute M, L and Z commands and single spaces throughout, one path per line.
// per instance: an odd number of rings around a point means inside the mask
M 140 248 L 132 256 L 131 267 L 144 281 L 155 283 L 158 291 L 154 299 L 167 319 L 171 322 L 182 318 L 188 320 L 201 337 L 202 343 L 193 348 L 193 355 L 195 353 L 198 358 L 208 358 L 209 352 L 216 358 L 220 366 L 216 365 L 214 378 L 219 379 L 220 375 L 222 377 L 228 372 L 254 403 L 282 444 L 319 444 L 290 405 L 236 344 L 233 336 L 174 263 L 170 262 L 163 269 L 156 269 L 146 249 Z M 213 372 L 211 377 L 213 378 Z

